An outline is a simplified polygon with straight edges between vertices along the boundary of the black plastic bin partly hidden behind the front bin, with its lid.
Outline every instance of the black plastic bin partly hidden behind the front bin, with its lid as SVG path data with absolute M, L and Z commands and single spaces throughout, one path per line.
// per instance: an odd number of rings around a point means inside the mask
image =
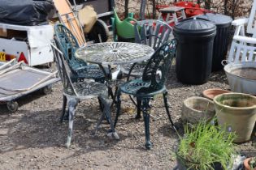
M 215 43 L 212 56 L 212 71 L 223 69 L 221 61 L 226 59 L 228 52 L 228 39 L 232 23 L 232 18 L 227 15 L 211 14 L 197 16 L 200 19 L 208 19 L 215 23 L 217 32 L 215 36 Z

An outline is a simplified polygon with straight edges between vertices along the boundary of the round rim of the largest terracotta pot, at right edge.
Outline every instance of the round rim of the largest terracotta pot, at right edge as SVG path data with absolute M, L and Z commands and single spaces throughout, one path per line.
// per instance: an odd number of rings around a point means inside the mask
M 249 106 L 249 107 L 232 107 L 232 106 L 228 106 L 228 105 L 224 105 L 224 104 L 220 104 L 219 101 L 217 101 L 217 99 L 221 96 L 232 96 L 232 95 L 241 95 L 241 96 L 248 96 L 250 98 L 253 98 L 254 100 L 256 100 L 255 96 L 251 96 L 249 94 L 245 94 L 245 93 L 236 93 L 236 92 L 230 92 L 230 93 L 224 93 L 224 94 L 220 94 L 218 96 L 215 96 L 214 103 L 219 105 L 220 107 L 223 108 L 229 108 L 229 109 L 235 109 L 235 110 L 245 110 L 245 109 L 255 109 L 256 108 L 256 104 Z

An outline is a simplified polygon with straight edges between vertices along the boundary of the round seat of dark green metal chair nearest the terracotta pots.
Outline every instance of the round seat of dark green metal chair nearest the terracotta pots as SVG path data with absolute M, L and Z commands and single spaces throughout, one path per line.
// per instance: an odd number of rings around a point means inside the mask
M 142 91 L 143 88 L 149 88 L 150 81 L 145 82 L 142 79 L 133 79 L 121 85 L 120 90 L 128 95 L 136 96 L 136 97 L 150 97 L 155 96 L 159 93 L 163 93 L 166 91 L 166 87 L 154 91 Z

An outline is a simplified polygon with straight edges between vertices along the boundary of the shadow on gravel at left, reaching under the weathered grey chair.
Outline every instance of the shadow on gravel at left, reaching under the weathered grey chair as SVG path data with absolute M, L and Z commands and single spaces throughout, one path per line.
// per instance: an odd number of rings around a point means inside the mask
M 50 109 L 50 108 L 49 108 Z M 102 128 L 93 136 L 99 114 L 98 106 L 76 110 L 72 145 L 82 148 L 107 150 L 117 141 L 106 136 L 110 125 L 102 122 Z M 68 122 L 59 123 L 61 109 L 33 112 L 20 110 L 20 114 L 0 115 L 0 153 L 28 148 L 64 147 L 67 138 Z M 121 139 L 126 138 L 120 136 Z M 71 146 L 72 147 L 72 146 Z

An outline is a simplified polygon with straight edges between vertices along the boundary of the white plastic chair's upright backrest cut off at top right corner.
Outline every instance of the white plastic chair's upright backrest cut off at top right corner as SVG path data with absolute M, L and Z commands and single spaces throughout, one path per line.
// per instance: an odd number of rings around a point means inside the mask
M 254 0 L 252 9 L 249 14 L 248 24 L 247 24 L 247 33 L 252 34 L 253 37 L 256 37 L 255 12 L 256 12 L 256 0 Z

